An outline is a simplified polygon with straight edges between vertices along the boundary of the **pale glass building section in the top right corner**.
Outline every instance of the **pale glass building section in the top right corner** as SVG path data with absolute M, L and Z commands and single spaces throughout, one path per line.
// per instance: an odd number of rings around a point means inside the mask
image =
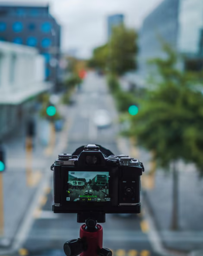
M 187 56 L 186 69 L 203 69 L 203 2 L 201 0 L 180 0 L 178 49 Z

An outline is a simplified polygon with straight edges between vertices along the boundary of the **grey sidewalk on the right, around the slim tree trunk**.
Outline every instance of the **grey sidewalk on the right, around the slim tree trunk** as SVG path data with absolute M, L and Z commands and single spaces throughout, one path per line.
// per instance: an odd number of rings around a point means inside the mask
M 171 231 L 172 173 L 157 169 L 151 182 L 147 183 L 150 154 L 142 148 L 134 147 L 128 139 L 120 138 L 118 144 L 124 149 L 123 152 L 138 158 L 144 164 L 145 172 L 141 177 L 142 206 L 144 212 L 148 211 L 150 221 L 153 221 L 163 250 L 166 249 L 169 255 L 202 250 L 203 255 L 203 179 L 199 177 L 195 167 L 192 164 L 178 163 L 179 230 Z M 150 229 L 151 227 L 149 231 Z

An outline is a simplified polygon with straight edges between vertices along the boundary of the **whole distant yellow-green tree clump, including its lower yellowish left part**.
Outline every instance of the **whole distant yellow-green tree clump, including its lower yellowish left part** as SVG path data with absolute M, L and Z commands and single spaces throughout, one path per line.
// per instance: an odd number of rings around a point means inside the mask
M 136 69 L 137 38 L 134 29 L 124 25 L 114 27 L 110 41 L 94 49 L 88 66 L 117 75 Z

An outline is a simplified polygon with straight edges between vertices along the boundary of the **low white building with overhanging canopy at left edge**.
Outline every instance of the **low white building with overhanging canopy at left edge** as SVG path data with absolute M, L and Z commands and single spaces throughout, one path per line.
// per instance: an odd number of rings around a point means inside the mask
M 0 140 L 23 130 L 45 82 L 44 58 L 36 48 L 0 42 Z

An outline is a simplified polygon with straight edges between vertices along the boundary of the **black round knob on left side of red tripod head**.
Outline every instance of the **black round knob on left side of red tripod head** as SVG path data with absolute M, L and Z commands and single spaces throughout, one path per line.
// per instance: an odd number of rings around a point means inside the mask
M 67 256 L 76 256 L 85 250 L 85 243 L 82 239 L 73 239 L 64 243 L 63 250 Z

